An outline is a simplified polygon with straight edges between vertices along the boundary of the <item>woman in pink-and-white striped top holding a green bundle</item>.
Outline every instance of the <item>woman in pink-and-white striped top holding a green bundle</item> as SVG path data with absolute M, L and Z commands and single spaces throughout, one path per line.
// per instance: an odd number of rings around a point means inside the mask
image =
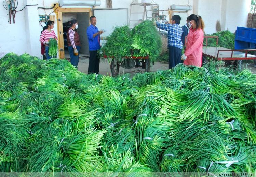
M 56 56 L 49 56 L 49 40 L 51 38 L 54 38 L 57 40 L 58 38 L 55 32 L 52 30 L 54 27 L 54 22 L 49 20 L 47 21 L 46 26 L 47 26 L 47 29 L 42 32 L 39 41 L 45 44 L 46 59 L 49 60 L 50 58 L 56 58 Z

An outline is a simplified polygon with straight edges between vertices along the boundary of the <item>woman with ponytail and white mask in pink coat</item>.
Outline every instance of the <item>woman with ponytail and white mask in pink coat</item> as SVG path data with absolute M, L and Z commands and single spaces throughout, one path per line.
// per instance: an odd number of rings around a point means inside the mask
M 202 50 L 204 40 L 204 22 L 199 15 L 189 16 L 191 21 L 188 23 L 190 30 L 187 36 L 187 45 L 185 53 L 181 56 L 185 65 L 201 67 Z

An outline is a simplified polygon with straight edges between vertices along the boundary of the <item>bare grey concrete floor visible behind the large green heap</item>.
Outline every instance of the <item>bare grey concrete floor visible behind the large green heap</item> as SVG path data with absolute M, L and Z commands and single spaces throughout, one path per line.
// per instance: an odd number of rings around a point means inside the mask
M 66 57 L 69 58 L 69 56 L 66 56 Z M 89 64 L 88 55 L 79 54 L 78 71 L 81 71 L 82 73 L 87 73 L 88 64 Z M 250 69 L 252 73 L 256 74 L 256 67 L 254 67 L 254 63 L 246 63 L 246 61 L 244 61 L 243 67 Z M 167 70 L 167 69 L 168 69 L 168 63 L 155 62 L 154 65 L 151 66 L 150 72 L 158 71 L 158 70 Z M 119 74 L 130 73 L 131 76 L 135 75 L 138 72 L 145 72 L 145 69 L 142 69 L 141 67 L 132 68 L 132 69 L 124 69 L 120 67 L 119 69 Z M 100 59 L 99 74 L 111 76 L 110 65 L 106 59 Z

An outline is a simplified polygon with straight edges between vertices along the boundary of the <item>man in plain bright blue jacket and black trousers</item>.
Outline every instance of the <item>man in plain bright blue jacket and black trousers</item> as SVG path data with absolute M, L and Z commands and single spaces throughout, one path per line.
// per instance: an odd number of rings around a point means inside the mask
M 98 50 L 100 49 L 100 34 L 104 33 L 103 31 L 99 31 L 96 27 L 96 17 L 90 17 L 91 25 L 87 28 L 87 36 L 89 43 L 89 66 L 88 66 L 88 74 L 91 73 L 99 73 L 99 54 Z

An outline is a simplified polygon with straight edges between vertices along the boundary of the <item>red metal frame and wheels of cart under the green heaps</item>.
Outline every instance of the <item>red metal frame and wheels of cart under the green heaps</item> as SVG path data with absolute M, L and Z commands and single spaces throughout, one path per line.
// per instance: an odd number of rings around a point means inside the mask
M 103 58 L 112 59 L 111 63 L 109 62 L 111 74 L 112 74 L 113 77 L 117 76 L 118 73 L 119 73 L 119 68 L 120 68 L 121 64 L 116 59 L 114 59 L 114 56 L 103 55 Z M 150 71 L 149 56 L 145 56 L 145 57 L 142 57 L 142 56 L 125 56 L 124 58 L 125 59 L 134 59 L 134 60 L 139 59 L 142 62 L 142 67 L 143 68 L 145 67 L 145 71 L 146 72 Z

